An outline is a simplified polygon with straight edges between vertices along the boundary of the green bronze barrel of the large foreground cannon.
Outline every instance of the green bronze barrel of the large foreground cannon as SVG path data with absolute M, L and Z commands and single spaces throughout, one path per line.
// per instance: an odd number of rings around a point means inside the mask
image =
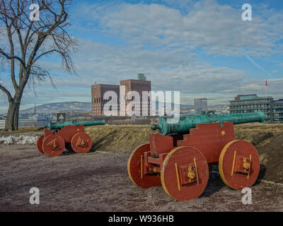
M 158 120 L 157 125 L 151 125 L 151 129 L 159 130 L 162 135 L 172 133 L 185 133 L 190 129 L 195 128 L 196 124 L 207 124 L 212 122 L 222 123 L 224 121 L 233 121 L 233 124 L 244 124 L 249 122 L 265 121 L 265 114 L 263 112 L 242 113 L 242 114 L 214 114 L 214 112 L 202 112 L 202 114 L 195 114 L 185 117 L 180 117 L 176 124 L 169 124 L 168 118 L 163 117 Z

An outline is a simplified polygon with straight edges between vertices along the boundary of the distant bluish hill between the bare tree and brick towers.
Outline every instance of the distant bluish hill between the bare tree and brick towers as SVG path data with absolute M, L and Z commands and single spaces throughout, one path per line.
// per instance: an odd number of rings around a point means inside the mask
M 88 111 L 91 112 L 91 102 L 56 102 L 36 106 L 37 113 L 51 114 L 54 112 Z M 21 110 L 21 114 L 33 114 L 34 107 Z

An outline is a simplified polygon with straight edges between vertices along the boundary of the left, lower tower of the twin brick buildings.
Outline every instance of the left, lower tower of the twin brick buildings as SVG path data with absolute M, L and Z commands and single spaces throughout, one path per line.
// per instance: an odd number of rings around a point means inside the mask
M 114 107 L 119 112 L 119 97 L 120 97 L 120 86 L 119 85 L 107 85 L 107 84 L 98 84 L 91 85 L 91 106 L 92 106 L 92 114 L 94 116 L 102 116 L 105 115 L 103 112 L 103 107 L 105 103 L 109 100 L 103 99 L 103 96 L 108 91 L 114 91 L 117 94 L 117 106 Z

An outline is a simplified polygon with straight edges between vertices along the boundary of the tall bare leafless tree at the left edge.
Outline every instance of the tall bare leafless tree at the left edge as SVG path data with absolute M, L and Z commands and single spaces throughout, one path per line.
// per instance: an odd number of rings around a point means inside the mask
M 31 4 L 38 6 L 39 20 L 36 11 L 33 14 L 30 10 Z M 0 37 L 8 38 L 7 44 L 0 42 L 0 56 L 13 84 L 9 90 L 8 85 L 0 83 L 9 103 L 6 130 L 18 130 L 18 113 L 26 85 L 35 88 L 45 78 L 52 82 L 50 70 L 45 69 L 40 59 L 58 54 L 64 69 L 76 73 L 71 52 L 76 50 L 77 42 L 67 32 L 70 4 L 71 0 L 0 0 Z

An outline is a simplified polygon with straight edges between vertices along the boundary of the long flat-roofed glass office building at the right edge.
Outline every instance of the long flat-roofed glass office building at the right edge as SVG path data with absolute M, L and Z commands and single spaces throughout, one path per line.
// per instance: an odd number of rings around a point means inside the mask
M 264 112 L 265 122 L 283 122 L 283 99 L 273 100 L 273 97 L 258 97 L 256 94 L 238 95 L 229 101 L 229 113 Z

